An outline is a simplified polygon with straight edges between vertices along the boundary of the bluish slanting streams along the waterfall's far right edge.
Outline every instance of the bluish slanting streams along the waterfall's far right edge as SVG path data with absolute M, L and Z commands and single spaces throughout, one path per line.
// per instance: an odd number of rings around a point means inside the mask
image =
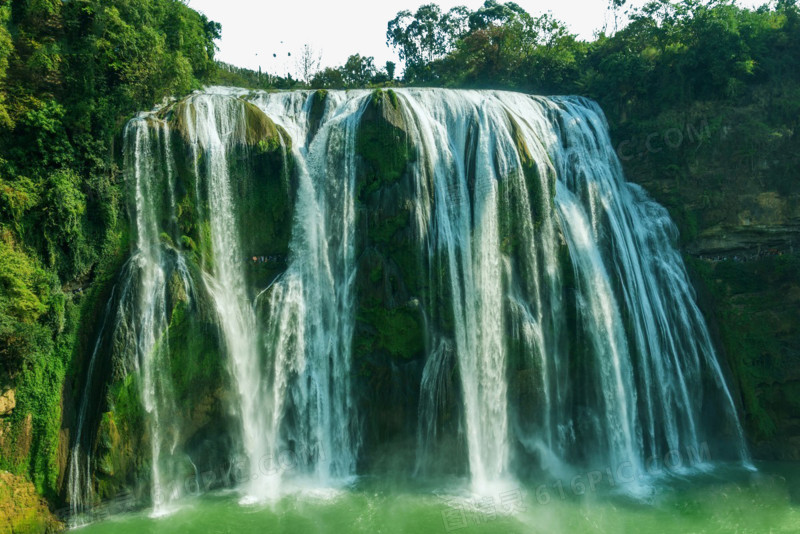
M 631 347 L 624 356 L 636 376 L 636 383 L 627 387 L 636 394 L 626 404 L 634 407 L 637 397 L 645 398 L 645 410 L 631 419 L 626 440 L 634 430 L 639 434 L 634 451 L 639 461 L 700 447 L 701 380 L 706 375 L 716 385 L 717 402 L 732 424 L 738 454 L 747 463 L 733 398 L 674 246 L 674 224 L 641 188 L 624 182 L 597 104 L 578 98 L 559 99 L 556 104 L 563 128 L 572 134 L 567 142 L 554 143 L 560 150 L 553 150 L 560 183 L 566 185 L 556 195 L 562 226 L 571 230 L 570 221 L 580 224 L 567 216 L 579 198 L 592 240 L 606 250 L 605 278 L 618 287 L 613 298 L 625 310 L 621 324 L 633 325 L 627 332 Z M 567 191 L 574 196 L 570 198 Z

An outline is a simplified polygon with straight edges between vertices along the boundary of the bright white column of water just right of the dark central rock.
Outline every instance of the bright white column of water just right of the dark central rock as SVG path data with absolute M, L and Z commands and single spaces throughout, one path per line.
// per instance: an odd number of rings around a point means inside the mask
M 492 113 L 502 110 L 481 109 L 477 96 L 458 111 L 450 102 L 430 106 L 423 100 L 429 95 L 420 96 L 418 101 L 408 100 L 419 127 L 414 144 L 424 147 L 426 157 L 420 161 L 428 166 L 417 169 L 418 180 L 433 183 L 434 197 L 446 200 L 426 206 L 429 195 L 424 187 L 418 189 L 423 193 L 417 201 L 422 206 L 418 220 L 423 218 L 426 225 L 418 233 L 429 236 L 434 250 L 442 250 L 447 258 L 470 472 L 475 485 L 484 486 L 504 476 L 508 468 L 503 262 L 498 254 L 500 193 L 494 172 L 496 164 L 507 161 L 494 159 L 490 136 L 480 137 L 472 171 L 474 189 L 480 194 L 472 196 L 466 151 L 471 128 L 488 131 L 489 123 L 498 119 Z M 433 175 L 430 181 L 424 178 L 426 171 Z

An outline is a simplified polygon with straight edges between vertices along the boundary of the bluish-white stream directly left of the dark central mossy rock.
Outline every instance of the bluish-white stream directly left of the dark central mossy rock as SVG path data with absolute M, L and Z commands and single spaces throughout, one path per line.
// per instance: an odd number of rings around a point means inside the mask
M 298 399 L 278 448 L 314 452 L 318 481 L 355 473 L 358 450 L 351 360 L 355 320 L 355 135 L 363 98 L 330 98 L 308 140 L 303 94 L 261 95 L 254 103 L 292 139 L 298 192 L 289 267 L 272 289 L 268 351 L 273 362 L 272 434 L 281 434 L 286 399 Z M 320 458 L 321 457 L 321 458 Z

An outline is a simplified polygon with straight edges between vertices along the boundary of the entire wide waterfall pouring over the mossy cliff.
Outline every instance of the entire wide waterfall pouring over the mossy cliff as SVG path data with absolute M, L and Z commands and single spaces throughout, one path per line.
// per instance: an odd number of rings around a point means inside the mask
M 394 167 L 373 176 L 361 136 L 381 128 Z M 135 240 L 105 318 L 135 355 L 156 513 L 193 437 L 165 372 L 186 341 L 174 279 L 213 307 L 244 502 L 346 482 L 376 439 L 412 443 L 420 475 L 463 450 L 478 491 L 535 469 L 641 473 L 718 439 L 747 462 L 677 230 L 624 180 L 593 102 L 210 88 L 132 120 L 125 144 Z M 377 415 L 385 376 L 418 392 L 391 397 L 397 421 Z M 91 498 L 88 398 L 73 506 Z

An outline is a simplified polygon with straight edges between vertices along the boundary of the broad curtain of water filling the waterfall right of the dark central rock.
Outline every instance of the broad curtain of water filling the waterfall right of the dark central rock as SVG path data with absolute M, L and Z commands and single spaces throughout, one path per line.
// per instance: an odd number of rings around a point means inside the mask
M 450 272 L 473 485 L 507 474 L 513 439 L 541 461 L 570 463 L 585 449 L 576 441 L 588 438 L 596 458 L 584 461 L 631 462 L 637 472 L 647 459 L 697 450 L 704 373 L 719 388 L 746 458 L 732 397 L 674 249 L 674 226 L 623 181 L 596 105 L 501 92 L 398 93 L 415 126 L 413 144 L 425 153 L 415 170 L 423 184 L 417 224 L 433 244 L 420 246 L 443 251 Z M 535 167 L 527 186 L 523 159 Z M 498 241 L 503 210 L 523 251 L 509 254 Z M 561 243 L 568 263 L 559 257 Z M 574 278 L 576 326 L 586 340 L 570 350 L 564 276 Z M 540 379 L 541 405 L 518 407 L 540 414 L 534 428 L 511 430 L 506 419 L 509 327 Z M 591 355 L 588 391 L 571 383 L 578 351 Z

